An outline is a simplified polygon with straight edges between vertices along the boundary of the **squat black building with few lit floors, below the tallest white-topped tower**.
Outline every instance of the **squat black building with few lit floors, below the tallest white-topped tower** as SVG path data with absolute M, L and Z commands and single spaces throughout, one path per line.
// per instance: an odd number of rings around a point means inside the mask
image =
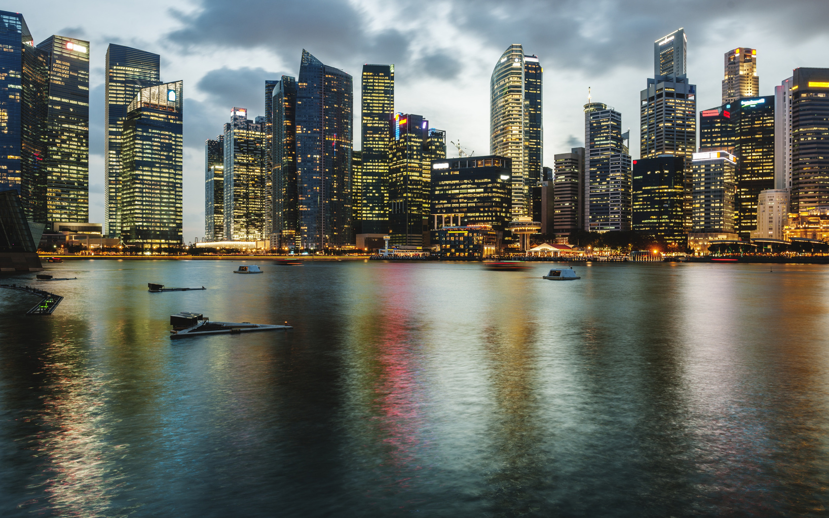
M 633 230 L 669 245 L 685 241 L 685 158 L 676 155 L 633 161 Z

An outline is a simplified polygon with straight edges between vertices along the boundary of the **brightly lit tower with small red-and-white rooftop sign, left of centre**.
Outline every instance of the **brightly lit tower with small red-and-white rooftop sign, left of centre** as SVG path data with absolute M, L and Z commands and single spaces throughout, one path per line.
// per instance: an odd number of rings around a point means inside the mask
M 269 172 L 265 162 L 262 124 L 247 118 L 248 110 L 234 108 L 224 133 L 224 189 L 226 241 L 269 240 L 266 235 Z

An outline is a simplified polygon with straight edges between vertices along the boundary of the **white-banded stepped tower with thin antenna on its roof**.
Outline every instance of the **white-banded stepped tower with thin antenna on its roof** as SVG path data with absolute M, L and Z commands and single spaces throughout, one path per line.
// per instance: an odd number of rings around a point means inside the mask
M 584 104 L 584 230 L 631 229 L 631 161 L 622 114 Z

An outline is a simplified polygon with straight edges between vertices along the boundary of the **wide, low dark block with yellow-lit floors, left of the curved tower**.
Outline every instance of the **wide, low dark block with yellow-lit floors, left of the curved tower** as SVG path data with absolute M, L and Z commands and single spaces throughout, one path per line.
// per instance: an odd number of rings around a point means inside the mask
M 459 215 L 467 225 L 503 231 L 510 220 L 511 170 L 509 158 L 493 155 L 432 162 L 434 228 L 441 215 Z

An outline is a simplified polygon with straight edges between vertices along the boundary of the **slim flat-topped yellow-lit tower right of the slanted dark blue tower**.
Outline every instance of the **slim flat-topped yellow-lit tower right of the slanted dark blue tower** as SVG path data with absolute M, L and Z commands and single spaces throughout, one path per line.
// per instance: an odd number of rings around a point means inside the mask
M 390 120 L 395 114 L 395 65 L 363 65 L 362 167 L 355 198 L 357 234 L 389 231 Z

